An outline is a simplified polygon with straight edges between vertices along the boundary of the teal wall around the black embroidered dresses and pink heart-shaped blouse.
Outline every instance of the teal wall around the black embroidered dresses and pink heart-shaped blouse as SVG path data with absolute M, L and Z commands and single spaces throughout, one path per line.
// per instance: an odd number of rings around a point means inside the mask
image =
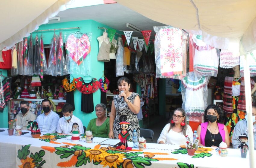
M 104 62 L 99 62 L 97 61 L 97 55 L 98 55 L 98 49 L 99 49 L 99 44 L 97 41 L 97 38 L 99 36 L 102 36 L 103 34 L 103 29 L 98 29 L 99 27 L 106 27 L 109 28 L 108 26 L 105 26 L 99 22 L 96 22 L 94 20 L 82 20 L 82 21 L 73 21 L 73 22 L 63 22 L 63 23 L 55 23 L 55 24 L 45 24 L 39 26 L 38 30 L 44 30 L 44 29 L 56 29 L 56 34 L 59 34 L 59 28 L 69 28 L 69 27 L 80 27 L 80 32 L 81 33 L 92 33 L 92 39 L 91 39 L 91 52 L 89 56 L 87 56 L 84 60 L 85 62 L 85 69 L 87 73 L 87 70 L 90 74 L 90 76 L 95 77 L 96 79 L 99 79 L 103 75 L 103 70 L 104 70 Z M 74 33 L 78 31 L 77 29 L 68 29 L 68 30 L 61 30 L 63 35 L 65 33 Z M 42 32 L 43 33 L 43 40 L 44 44 L 50 44 L 51 39 L 53 37 L 53 31 L 47 31 L 47 32 Z M 36 34 L 38 36 L 41 35 L 41 32 L 38 33 L 33 33 L 33 38 L 35 38 Z M 79 75 L 79 74 L 72 74 L 75 78 L 76 77 L 83 77 L 84 75 Z M 96 104 L 100 103 L 100 90 L 96 91 L 93 93 L 93 103 L 94 107 Z M 78 118 L 80 118 L 83 122 L 83 125 L 87 127 L 89 121 L 93 118 L 96 118 L 95 111 L 92 113 L 84 113 L 81 111 L 81 92 L 80 91 L 75 91 L 74 92 L 74 98 L 75 98 L 75 110 L 74 110 L 74 115 Z

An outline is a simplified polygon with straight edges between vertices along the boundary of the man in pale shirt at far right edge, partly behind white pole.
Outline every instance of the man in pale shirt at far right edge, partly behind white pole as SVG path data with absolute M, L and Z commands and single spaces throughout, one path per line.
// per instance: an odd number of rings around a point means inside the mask
M 237 147 L 241 144 L 239 140 L 239 136 L 243 135 L 244 133 L 249 136 L 248 134 L 248 125 L 247 125 L 247 115 L 245 115 L 245 119 L 242 121 L 239 121 L 235 128 L 234 133 L 232 137 L 232 144 L 233 148 L 237 149 Z M 256 107 L 252 106 L 252 124 L 253 124 L 253 137 L 254 137 L 254 150 L 256 150 Z M 247 144 L 248 145 L 248 144 Z

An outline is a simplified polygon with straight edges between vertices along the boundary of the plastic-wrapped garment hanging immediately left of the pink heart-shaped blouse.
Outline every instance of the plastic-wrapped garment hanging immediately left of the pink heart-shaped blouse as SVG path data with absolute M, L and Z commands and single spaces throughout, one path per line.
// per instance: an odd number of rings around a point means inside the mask
M 57 75 L 59 76 L 68 74 L 66 55 L 64 53 L 63 46 L 62 32 L 60 32 L 57 45 Z

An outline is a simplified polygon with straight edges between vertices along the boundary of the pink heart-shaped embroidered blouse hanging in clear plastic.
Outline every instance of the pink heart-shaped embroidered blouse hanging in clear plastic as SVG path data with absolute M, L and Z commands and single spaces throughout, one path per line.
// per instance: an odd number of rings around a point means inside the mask
M 78 65 L 83 62 L 83 59 L 91 51 L 89 37 L 83 34 L 81 38 L 76 38 L 74 35 L 69 35 L 66 43 L 67 55 L 73 59 Z

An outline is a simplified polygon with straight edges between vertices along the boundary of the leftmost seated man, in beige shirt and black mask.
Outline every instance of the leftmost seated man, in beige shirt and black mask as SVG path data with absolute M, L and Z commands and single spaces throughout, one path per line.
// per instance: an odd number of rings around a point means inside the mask
M 36 119 L 36 115 L 29 110 L 29 103 L 27 101 L 20 102 L 20 111 L 21 113 L 17 114 L 14 122 L 13 127 L 15 128 L 16 125 L 19 125 L 23 130 L 27 130 L 27 125 L 29 121 L 34 121 Z M 30 128 L 28 128 L 30 130 Z

